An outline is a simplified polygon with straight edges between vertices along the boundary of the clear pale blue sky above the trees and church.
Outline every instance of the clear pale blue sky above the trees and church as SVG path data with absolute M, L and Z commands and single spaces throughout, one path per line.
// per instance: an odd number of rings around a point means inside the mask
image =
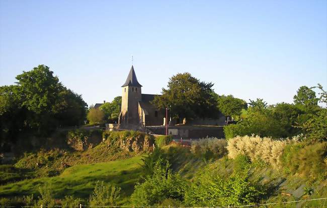
M 327 88 L 327 1 L 0 0 L 0 85 L 48 65 L 90 105 L 189 72 L 218 94 L 269 104 Z

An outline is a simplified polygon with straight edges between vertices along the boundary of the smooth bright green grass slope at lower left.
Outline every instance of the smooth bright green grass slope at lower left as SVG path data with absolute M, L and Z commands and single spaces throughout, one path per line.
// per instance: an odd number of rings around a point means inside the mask
M 47 184 L 51 186 L 57 198 L 63 198 L 65 195 L 88 198 L 96 181 L 102 180 L 122 188 L 123 203 L 127 200 L 126 196 L 133 192 L 135 182 L 141 175 L 141 162 L 141 156 L 136 156 L 121 161 L 75 165 L 56 177 L 28 179 L 0 186 L 0 195 L 6 197 L 38 194 L 39 187 Z

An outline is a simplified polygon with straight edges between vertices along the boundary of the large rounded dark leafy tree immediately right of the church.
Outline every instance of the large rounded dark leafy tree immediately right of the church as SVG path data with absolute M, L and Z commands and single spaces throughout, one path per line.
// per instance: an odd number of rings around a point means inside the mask
M 168 88 L 162 88 L 162 95 L 156 96 L 153 103 L 159 109 L 169 108 L 174 118 L 212 118 L 218 113 L 212 86 L 190 73 L 177 74 L 170 78 Z

